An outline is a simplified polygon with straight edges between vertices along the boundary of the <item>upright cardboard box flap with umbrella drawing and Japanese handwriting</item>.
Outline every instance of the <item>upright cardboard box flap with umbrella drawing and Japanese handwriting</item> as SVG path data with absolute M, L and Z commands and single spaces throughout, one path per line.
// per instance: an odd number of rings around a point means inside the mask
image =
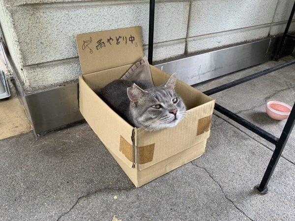
M 143 57 L 141 27 L 76 35 L 82 74 L 135 63 Z

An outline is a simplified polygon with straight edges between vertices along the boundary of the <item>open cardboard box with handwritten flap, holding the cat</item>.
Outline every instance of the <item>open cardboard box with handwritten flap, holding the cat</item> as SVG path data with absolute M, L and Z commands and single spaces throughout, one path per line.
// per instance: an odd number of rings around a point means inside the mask
M 151 133 L 132 127 L 95 94 L 143 57 L 141 33 L 141 27 L 134 27 L 76 36 L 83 73 L 80 111 L 136 187 L 204 153 L 214 108 L 212 98 L 177 80 L 187 116 L 173 128 Z M 151 65 L 150 70 L 155 85 L 170 77 Z

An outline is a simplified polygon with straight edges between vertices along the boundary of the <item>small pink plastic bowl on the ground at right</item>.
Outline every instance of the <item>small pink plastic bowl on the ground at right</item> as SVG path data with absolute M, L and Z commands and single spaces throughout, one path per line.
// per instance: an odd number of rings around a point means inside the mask
M 291 107 L 283 102 L 269 101 L 266 105 L 266 113 L 272 119 L 284 120 L 287 119 L 291 112 Z

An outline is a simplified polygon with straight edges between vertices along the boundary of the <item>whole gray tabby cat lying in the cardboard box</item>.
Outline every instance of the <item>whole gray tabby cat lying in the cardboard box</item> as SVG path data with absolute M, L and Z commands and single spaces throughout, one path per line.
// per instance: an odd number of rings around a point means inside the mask
M 157 131 L 174 127 L 186 108 L 175 92 L 176 74 L 160 86 L 145 80 L 115 80 L 97 94 L 121 117 L 135 127 Z

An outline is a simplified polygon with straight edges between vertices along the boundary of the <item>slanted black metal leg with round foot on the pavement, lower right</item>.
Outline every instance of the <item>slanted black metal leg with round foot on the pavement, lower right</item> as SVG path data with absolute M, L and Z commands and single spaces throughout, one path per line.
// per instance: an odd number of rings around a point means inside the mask
M 268 192 L 267 184 L 282 155 L 282 152 L 292 132 L 292 129 L 294 128 L 294 125 L 295 125 L 295 104 L 293 105 L 292 111 L 290 113 L 290 116 L 288 117 L 288 120 L 283 129 L 281 137 L 279 138 L 277 144 L 275 145 L 275 149 L 273 151 L 269 164 L 266 168 L 266 172 L 262 178 L 262 181 L 259 185 L 256 186 L 256 190 L 261 194 L 266 194 Z

